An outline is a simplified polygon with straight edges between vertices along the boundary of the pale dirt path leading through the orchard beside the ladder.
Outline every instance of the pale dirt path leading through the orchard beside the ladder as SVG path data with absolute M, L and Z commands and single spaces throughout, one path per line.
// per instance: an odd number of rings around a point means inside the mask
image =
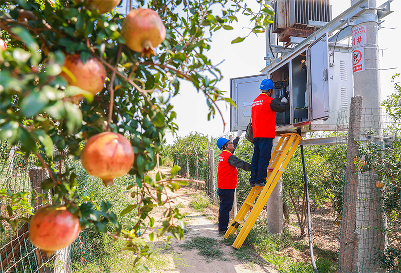
M 162 170 L 163 173 L 168 174 L 168 170 Z M 253 262 L 244 262 L 236 258 L 235 251 L 231 245 L 224 243 L 223 235 L 218 233 L 217 230 L 217 215 L 218 207 L 207 208 L 202 212 L 193 210 L 189 203 L 191 196 L 195 192 L 193 188 L 182 187 L 176 195 L 175 205 L 179 207 L 181 213 L 186 213 L 184 218 L 186 222 L 185 236 L 182 241 L 173 239 L 168 248 L 164 251 L 165 255 L 170 255 L 169 270 L 154 271 L 154 272 L 170 272 L 170 273 L 276 273 L 257 253 L 247 253 L 247 260 Z M 155 219 L 161 214 L 161 211 L 155 211 L 153 215 Z M 157 222 L 157 221 L 156 221 Z M 188 249 L 185 247 L 188 243 L 193 242 L 194 239 L 202 241 L 203 239 L 214 241 L 213 248 L 220 250 L 222 256 L 220 258 L 205 258 L 200 255 L 197 249 Z M 212 239 L 212 240 L 210 240 Z M 163 252 L 163 251 L 162 251 Z M 171 257 L 175 255 L 174 257 Z M 163 254 L 163 253 L 161 253 Z M 251 259 L 249 259 L 251 256 Z M 178 259 L 177 259 L 178 258 Z M 176 261 L 179 262 L 176 262 Z M 153 270 L 151 270 L 153 271 Z

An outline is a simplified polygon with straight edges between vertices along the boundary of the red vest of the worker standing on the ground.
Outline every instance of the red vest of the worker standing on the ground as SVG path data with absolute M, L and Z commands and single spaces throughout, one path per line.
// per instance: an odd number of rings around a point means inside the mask
M 217 169 L 217 187 L 219 189 L 235 189 L 237 187 L 237 168 L 229 164 L 229 157 L 233 154 L 224 150 L 219 155 Z

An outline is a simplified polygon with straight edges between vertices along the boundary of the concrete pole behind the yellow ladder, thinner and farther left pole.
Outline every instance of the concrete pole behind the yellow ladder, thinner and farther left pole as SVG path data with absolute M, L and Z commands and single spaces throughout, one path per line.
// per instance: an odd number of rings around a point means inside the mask
M 267 0 L 266 4 L 271 5 L 272 1 Z M 270 33 L 270 45 L 277 45 L 277 34 Z M 276 53 L 277 54 L 277 53 Z M 266 57 L 276 57 L 273 56 L 271 49 L 269 47 L 269 27 L 266 30 Z M 266 61 L 268 65 L 269 61 Z M 278 141 L 278 138 L 275 139 Z M 283 232 L 283 178 L 277 182 L 276 187 L 272 191 L 269 199 L 266 203 L 267 211 L 267 230 L 272 234 L 280 234 Z

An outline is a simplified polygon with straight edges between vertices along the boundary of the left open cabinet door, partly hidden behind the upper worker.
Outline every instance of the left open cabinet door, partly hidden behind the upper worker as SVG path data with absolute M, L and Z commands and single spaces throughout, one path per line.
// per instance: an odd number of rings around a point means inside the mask
M 244 130 L 251 119 L 251 107 L 260 94 L 260 83 L 266 74 L 230 79 L 230 98 L 236 103 L 230 108 L 230 131 Z

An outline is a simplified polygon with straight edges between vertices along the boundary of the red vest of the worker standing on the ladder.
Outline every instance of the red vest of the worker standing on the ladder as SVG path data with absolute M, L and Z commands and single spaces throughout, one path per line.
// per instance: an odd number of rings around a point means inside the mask
M 261 93 L 252 103 L 252 133 L 255 137 L 275 137 L 276 112 L 270 108 L 273 98 Z

